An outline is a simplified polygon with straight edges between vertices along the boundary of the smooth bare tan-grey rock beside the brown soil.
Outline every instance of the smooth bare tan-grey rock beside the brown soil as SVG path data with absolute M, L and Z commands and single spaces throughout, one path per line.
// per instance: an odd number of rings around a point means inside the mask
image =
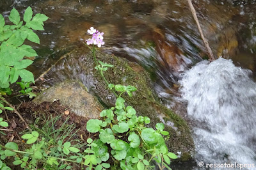
M 99 112 L 103 107 L 97 98 L 88 93 L 86 87 L 79 81 L 64 81 L 51 88 L 42 91 L 33 102 L 54 102 L 60 100 L 62 105 L 67 105 L 72 112 L 85 118 L 99 118 Z

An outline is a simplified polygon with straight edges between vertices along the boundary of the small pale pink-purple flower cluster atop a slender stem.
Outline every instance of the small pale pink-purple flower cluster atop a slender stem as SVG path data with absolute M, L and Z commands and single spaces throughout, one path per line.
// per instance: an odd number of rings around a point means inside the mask
M 101 45 L 104 45 L 105 42 L 103 42 L 103 35 L 104 33 L 100 33 L 98 30 L 94 29 L 93 27 L 90 27 L 90 29 L 87 30 L 87 32 L 92 35 L 92 38 L 89 38 L 86 40 L 86 44 L 94 44 L 98 47 L 101 47 Z

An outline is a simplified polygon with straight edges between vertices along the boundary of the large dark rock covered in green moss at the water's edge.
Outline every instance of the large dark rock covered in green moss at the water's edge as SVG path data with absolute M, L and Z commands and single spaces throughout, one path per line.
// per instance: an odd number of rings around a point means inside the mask
M 180 116 L 160 104 L 160 99 L 150 84 L 150 75 L 138 64 L 124 58 L 97 52 L 97 59 L 114 65 L 104 73 L 108 82 L 131 85 L 138 89 L 133 93 L 133 97 L 126 94 L 122 97 L 127 105 L 132 105 L 136 109 L 139 115 L 151 118 L 150 126 L 154 127 L 158 122 L 165 124 L 165 129 L 170 132 L 170 139 L 167 141 L 170 151 L 181 152 L 183 160 L 190 158 L 194 144 L 189 127 Z M 52 86 L 65 79 L 79 80 L 104 107 L 115 105 L 115 96 L 94 67 L 92 53 L 88 52 L 86 47 L 74 49 L 62 56 L 60 61 L 44 75 L 45 79 L 51 79 L 45 86 Z M 73 102 L 79 101 L 73 100 Z

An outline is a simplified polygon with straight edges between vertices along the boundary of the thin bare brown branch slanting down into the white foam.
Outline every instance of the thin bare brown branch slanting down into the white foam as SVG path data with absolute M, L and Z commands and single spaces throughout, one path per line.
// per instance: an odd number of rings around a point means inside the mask
M 213 54 L 212 54 L 212 50 L 211 50 L 211 48 L 210 48 L 210 46 L 209 46 L 208 41 L 207 41 L 206 38 L 204 37 L 204 33 L 203 33 L 202 28 L 201 28 L 201 26 L 200 26 L 199 20 L 198 20 L 198 18 L 197 18 L 197 16 L 196 16 L 196 10 L 195 10 L 195 8 L 194 8 L 193 3 L 191 2 L 191 0 L 188 0 L 188 4 L 189 4 L 189 8 L 190 8 L 190 10 L 191 10 L 191 12 L 192 12 L 192 15 L 193 15 L 193 17 L 194 17 L 194 19 L 195 19 L 195 21 L 196 21 L 196 25 L 197 25 L 197 27 L 198 27 L 199 33 L 200 33 L 200 35 L 201 35 L 201 38 L 202 38 L 202 40 L 203 40 L 203 42 L 204 42 L 205 49 L 207 50 L 207 54 L 208 54 L 208 56 L 209 56 L 209 60 L 210 60 L 210 61 L 214 61 L 215 58 L 214 58 L 214 56 L 213 56 Z

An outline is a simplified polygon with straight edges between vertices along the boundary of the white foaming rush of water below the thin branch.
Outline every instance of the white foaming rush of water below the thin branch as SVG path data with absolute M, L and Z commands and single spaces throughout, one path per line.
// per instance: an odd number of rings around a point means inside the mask
M 250 73 L 223 58 L 202 61 L 184 73 L 181 92 L 198 162 L 255 164 L 249 169 L 256 169 L 256 83 Z

